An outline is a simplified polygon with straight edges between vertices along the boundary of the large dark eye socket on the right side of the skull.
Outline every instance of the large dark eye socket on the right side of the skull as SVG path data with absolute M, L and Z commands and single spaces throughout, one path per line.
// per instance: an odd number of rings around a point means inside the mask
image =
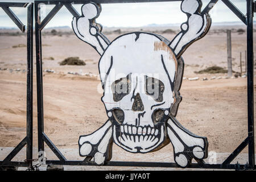
M 163 102 L 164 84 L 162 81 L 146 76 L 146 94 L 154 98 L 156 102 Z

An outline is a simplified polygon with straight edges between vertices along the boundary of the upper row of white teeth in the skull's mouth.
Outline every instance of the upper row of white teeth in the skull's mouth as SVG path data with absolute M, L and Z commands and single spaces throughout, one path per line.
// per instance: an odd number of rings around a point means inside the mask
M 131 126 L 131 125 L 121 125 L 121 133 L 130 134 L 130 135 L 158 135 L 158 129 L 150 126 Z M 138 137 L 140 138 L 140 137 Z

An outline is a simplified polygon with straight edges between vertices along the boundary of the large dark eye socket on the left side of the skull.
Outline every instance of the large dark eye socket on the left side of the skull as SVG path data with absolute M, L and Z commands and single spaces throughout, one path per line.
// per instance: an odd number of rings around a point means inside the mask
M 115 102 L 121 101 L 123 97 L 131 92 L 130 74 L 126 77 L 115 80 L 111 85 L 113 100 Z

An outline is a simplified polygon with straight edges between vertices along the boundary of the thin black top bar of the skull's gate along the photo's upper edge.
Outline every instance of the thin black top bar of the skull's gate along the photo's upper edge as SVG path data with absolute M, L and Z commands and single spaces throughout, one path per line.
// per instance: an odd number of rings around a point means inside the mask
M 86 2 L 94 2 L 99 4 L 106 3 L 138 3 L 138 2 L 172 2 L 172 1 L 183 1 L 183 0 L 68 0 L 68 1 L 35 1 L 35 4 L 44 3 L 46 5 L 62 4 L 84 4 Z

